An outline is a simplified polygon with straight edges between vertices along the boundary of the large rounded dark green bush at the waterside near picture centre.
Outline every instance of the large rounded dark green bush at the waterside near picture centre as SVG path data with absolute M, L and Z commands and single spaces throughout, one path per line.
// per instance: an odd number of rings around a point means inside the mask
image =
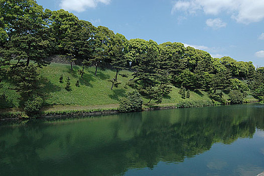
M 125 93 L 126 97 L 120 99 L 119 112 L 136 112 L 142 111 L 143 100 L 137 90 Z

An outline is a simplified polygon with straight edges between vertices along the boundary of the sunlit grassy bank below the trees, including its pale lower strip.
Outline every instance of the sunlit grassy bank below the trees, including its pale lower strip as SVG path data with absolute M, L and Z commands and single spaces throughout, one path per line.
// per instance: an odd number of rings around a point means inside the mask
M 73 71 L 68 64 L 51 63 L 50 65 L 40 69 L 41 83 L 44 85 L 43 93 L 47 93 L 44 98 L 44 108 L 41 114 L 53 113 L 61 114 L 63 112 L 77 113 L 77 112 L 95 112 L 95 111 L 109 111 L 118 108 L 118 100 L 124 97 L 126 91 L 131 90 L 126 83 L 129 81 L 131 72 L 127 70 L 120 71 L 121 74 L 126 74 L 127 77 L 118 75 L 118 80 L 121 84 L 118 87 L 113 87 L 111 91 L 111 82 L 115 75 L 113 70 L 98 70 L 97 75 L 94 76 L 95 68 L 85 68 L 83 78 L 78 74 L 80 66 L 73 66 Z M 63 75 L 63 83 L 59 82 L 60 76 Z M 64 89 L 66 85 L 66 78 L 71 80 L 72 91 L 68 92 Z M 79 80 L 80 86 L 75 85 Z M 3 117 L 7 114 L 19 114 L 21 110 L 18 108 L 20 105 L 20 95 L 12 88 L 11 80 L 3 81 L 3 88 L 0 90 L 0 95 L 5 92 L 7 99 L 6 102 L 0 102 L 0 114 Z M 172 92 L 166 96 L 162 104 L 147 105 L 149 100 L 143 99 L 144 109 L 150 108 L 164 108 L 164 107 L 201 107 L 212 106 L 212 101 L 208 94 L 203 91 L 190 92 L 190 98 L 182 99 L 179 94 L 179 88 L 172 86 Z M 228 96 L 224 95 L 227 100 Z M 249 101 L 256 101 L 252 96 L 246 98 Z M 13 116 L 13 115 L 12 115 Z

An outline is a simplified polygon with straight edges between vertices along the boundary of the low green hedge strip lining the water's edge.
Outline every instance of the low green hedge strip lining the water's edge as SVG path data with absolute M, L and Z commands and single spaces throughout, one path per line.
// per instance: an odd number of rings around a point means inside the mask
M 256 102 L 257 101 L 251 101 L 249 103 L 256 103 Z M 143 107 L 142 112 L 143 111 L 166 110 L 166 109 L 177 109 L 177 108 L 199 108 L 199 107 L 219 106 L 219 105 L 214 105 L 214 104 L 207 104 L 203 106 L 192 105 L 189 107 L 181 107 L 181 106 L 179 107 L 179 104 L 180 103 L 172 104 L 172 105 L 150 105 L 150 107 Z M 64 107 L 64 106 L 61 106 L 61 107 Z M 44 107 L 44 109 L 45 108 L 47 107 Z M 17 111 L 17 112 L 0 113 L 0 121 L 61 118 L 61 117 L 74 117 L 74 116 L 76 117 L 77 116 L 100 116 L 100 115 L 111 115 L 111 114 L 119 114 L 119 113 L 125 113 L 125 112 L 119 112 L 117 108 L 93 109 L 93 110 L 82 109 L 82 110 L 64 110 L 64 111 L 43 111 L 39 115 L 36 115 L 35 117 L 23 118 L 22 115 L 25 113 L 21 111 Z

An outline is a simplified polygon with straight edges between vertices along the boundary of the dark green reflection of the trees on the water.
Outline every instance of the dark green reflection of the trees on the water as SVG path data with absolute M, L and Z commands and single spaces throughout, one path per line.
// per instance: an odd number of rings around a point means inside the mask
M 128 113 L 0 126 L 0 173 L 124 174 L 159 161 L 182 162 L 264 129 L 251 106 Z

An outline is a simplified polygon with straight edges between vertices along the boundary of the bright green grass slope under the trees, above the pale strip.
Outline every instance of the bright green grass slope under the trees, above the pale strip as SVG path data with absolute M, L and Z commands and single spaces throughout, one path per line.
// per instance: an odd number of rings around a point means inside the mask
M 113 78 L 115 72 L 112 70 L 98 70 L 97 75 L 94 76 L 95 69 L 93 67 L 85 69 L 83 78 L 78 74 L 80 66 L 73 66 L 73 71 L 70 70 L 70 65 L 52 63 L 41 69 L 41 82 L 45 85 L 43 91 L 49 93 L 45 100 L 45 111 L 66 109 L 66 110 L 82 110 L 82 109 L 99 109 L 102 107 L 116 108 L 118 107 L 118 99 L 124 96 L 126 91 L 131 88 L 125 89 L 125 83 L 131 78 L 131 72 L 121 71 L 122 74 L 128 74 L 128 77 L 121 77 L 118 75 L 118 80 L 122 82 L 118 87 L 113 87 L 110 90 L 111 82 L 108 80 Z M 60 75 L 63 74 L 63 83 L 59 82 Z M 72 91 L 67 92 L 64 87 L 66 85 L 66 78 L 70 77 Z M 76 81 L 80 81 L 80 87 L 76 87 Z M 8 96 L 9 106 L 19 106 L 19 95 L 9 89 L 10 84 L 4 81 L 4 87 L 0 90 L 0 94 L 4 91 Z M 182 101 L 181 96 L 178 94 L 179 88 L 173 87 L 169 96 L 164 98 L 161 106 L 177 104 Z M 225 95 L 225 98 L 228 96 Z M 190 93 L 189 100 L 210 100 L 208 94 L 205 92 Z M 248 98 L 252 99 L 252 97 Z M 144 99 L 144 103 L 148 100 Z M 78 106 L 64 106 L 61 105 L 78 105 Z M 107 106 L 98 106 L 107 105 Z

